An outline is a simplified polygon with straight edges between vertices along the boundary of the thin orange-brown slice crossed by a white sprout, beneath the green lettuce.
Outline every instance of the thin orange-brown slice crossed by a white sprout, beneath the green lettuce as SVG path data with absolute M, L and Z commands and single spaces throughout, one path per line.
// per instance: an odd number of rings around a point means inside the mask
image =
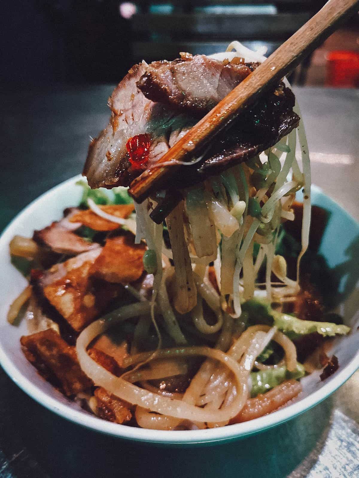
M 126 219 L 134 210 L 133 204 L 117 204 L 110 206 L 100 206 L 103 212 L 111 214 L 111 216 Z M 94 229 L 95 231 L 113 231 L 121 227 L 119 224 L 95 214 L 91 209 L 78 211 L 69 221 L 71 223 L 81 223 L 83 226 Z

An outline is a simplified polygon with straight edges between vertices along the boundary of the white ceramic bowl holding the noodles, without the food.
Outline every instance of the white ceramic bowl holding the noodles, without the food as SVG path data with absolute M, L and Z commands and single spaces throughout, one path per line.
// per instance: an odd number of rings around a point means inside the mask
M 163 445 L 225 442 L 256 434 L 305 412 L 333 393 L 359 367 L 359 332 L 355 326 L 355 333 L 338 339 L 334 345 L 333 353 L 337 355 L 340 365 L 337 372 L 324 382 L 319 380 L 318 373 L 303 379 L 300 400 L 256 420 L 210 430 L 167 432 L 113 424 L 85 412 L 76 403 L 67 400 L 43 380 L 23 356 L 19 339 L 21 335 L 28 334 L 24 321 L 19 326 L 11 326 L 6 321 L 9 305 L 26 285 L 20 272 L 11 265 L 9 242 L 15 234 L 31 236 L 34 228 L 43 228 L 62 217 L 65 207 L 78 205 L 82 190 L 75 183 L 79 177 L 65 181 L 36 199 L 11 222 L 0 238 L 0 364 L 11 379 L 34 400 L 74 423 L 129 440 Z M 330 212 L 320 251 L 330 267 L 337 267 L 338 271 L 349 274 L 342 274 L 340 290 L 348 298 L 341 307 L 341 313 L 345 317 L 345 323 L 353 326 L 358 318 L 355 312 L 359 309 L 358 290 L 355 289 L 359 268 L 354 257 L 354 250 L 358 250 L 359 225 L 320 189 L 313 187 L 312 191 L 313 203 L 322 205 Z

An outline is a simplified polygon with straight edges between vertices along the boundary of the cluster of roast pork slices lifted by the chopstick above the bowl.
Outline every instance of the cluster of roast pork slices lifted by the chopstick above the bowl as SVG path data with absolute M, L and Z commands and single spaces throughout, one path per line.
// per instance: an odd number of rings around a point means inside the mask
M 83 171 L 90 186 L 129 185 L 257 66 L 188 54 L 135 65 L 110 97 L 110 123 L 90 144 Z M 203 163 L 180 172 L 177 184 L 201 182 L 273 146 L 298 125 L 293 106 L 292 92 L 281 84 L 220 133 Z M 143 161 L 135 162 L 141 154 Z

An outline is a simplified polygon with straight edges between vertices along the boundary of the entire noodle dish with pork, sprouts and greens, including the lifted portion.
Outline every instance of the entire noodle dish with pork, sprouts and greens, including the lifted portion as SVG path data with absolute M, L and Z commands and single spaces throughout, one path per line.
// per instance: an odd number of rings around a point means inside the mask
M 325 380 L 339 366 L 330 344 L 350 329 L 331 312 L 336 284 L 315 250 L 325 211 L 311 209 L 305 133 L 286 79 L 171 184 L 141 204 L 126 189 L 263 60 L 234 42 L 223 54 L 133 66 L 90 143 L 81 203 L 11 241 L 29 278 L 8 315 L 25 310 L 25 357 L 104 420 L 236 424 L 298 400 L 301 378 L 322 369 Z M 155 223 L 150 214 L 174 192 L 181 200 Z

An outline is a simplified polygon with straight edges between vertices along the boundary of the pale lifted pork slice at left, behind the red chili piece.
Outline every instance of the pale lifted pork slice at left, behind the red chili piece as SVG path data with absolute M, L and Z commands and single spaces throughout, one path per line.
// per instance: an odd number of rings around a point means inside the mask
M 159 62 L 157 62 L 159 63 Z M 151 137 L 148 162 L 156 163 L 169 149 L 169 139 L 179 138 L 196 120 L 153 102 L 137 89 L 146 73 L 145 63 L 133 66 L 109 98 L 111 119 L 100 136 L 90 143 L 83 174 L 92 188 L 128 185 L 142 169 L 132 166 L 126 143 L 139 134 Z M 183 133 L 185 134 L 185 133 Z

